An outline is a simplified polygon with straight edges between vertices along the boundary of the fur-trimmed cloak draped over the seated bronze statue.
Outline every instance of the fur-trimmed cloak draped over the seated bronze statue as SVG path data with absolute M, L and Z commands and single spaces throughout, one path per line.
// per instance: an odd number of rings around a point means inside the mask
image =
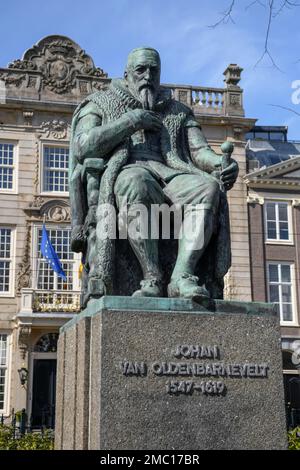
M 70 163 L 69 180 L 81 177 L 82 163 L 78 159 L 77 146 L 75 145 L 75 133 L 81 111 L 90 102 L 96 104 L 101 117 L 102 124 L 115 121 L 129 110 L 140 108 L 141 104 L 124 87 L 122 80 L 114 80 L 108 89 L 101 90 L 88 96 L 75 110 L 71 127 L 70 141 Z M 191 160 L 187 147 L 184 124 L 188 118 L 193 116 L 190 108 L 172 99 L 170 90 L 161 88 L 161 93 L 156 104 L 155 111 L 159 112 L 163 126 L 161 130 L 160 142 L 161 153 L 165 165 L 181 173 L 203 175 L 204 171 L 197 168 Z M 113 204 L 114 184 L 122 167 L 126 165 L 130 157 L 130 142 L 127 139 L 124 143 L 116 147 L 105 158 L 105 169 L 99 181 L 100 204 Z M 88 238 L 89 226 L 96 223 L 101 225 L 99 215 L 95 216 L 95 211 L 89 212 L 86 201 L 85 190 L 81 191 L 81 198 L 74 194 L 70 185 L 70 202 L 72 208 L 72 225 L 76 218 L 76 224 L 84 227 L 86 238 Z M 78 200 L 80 202 L 78 202 Z M 92 220 L 92 218 L 96 220 Z M 107 223 L 107 218 L 106 218 Z M 98 226 L 99 226 L 98 225 Z M 116 240 L 106 238 L 97 239 L 97 270 L 95 277 L 103 280 L 106 286 L 106 294 L 113 294 L 113 279 L 115 267 L 115 243 Z M 201 266 L 205 266 L 199 274 L 201 281 L 205 282 L 213 298 L 223 296 L 223 278 L 231 265 L 230 247 L 230 226 L 229 211 L 226 194 L 221 192 L 220 204 L 218 208 L 217 226 L 215 235 L 205 252 L 205 260 L 201 259 Z

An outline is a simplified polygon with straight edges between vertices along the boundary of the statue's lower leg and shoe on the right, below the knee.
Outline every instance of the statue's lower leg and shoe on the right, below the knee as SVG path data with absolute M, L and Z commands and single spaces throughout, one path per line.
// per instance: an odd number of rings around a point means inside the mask
M 199 278 L 194 273 L 211 239 L 214 223 L 215 215 L 210 209 L 195 209 L 190 206 L 185 210 L 181 237 L 178 240 L 178 256 L 168 286 L 169 297 L 184 297 L 195 301 L 210 297 L 206 287 L 198 285 Z

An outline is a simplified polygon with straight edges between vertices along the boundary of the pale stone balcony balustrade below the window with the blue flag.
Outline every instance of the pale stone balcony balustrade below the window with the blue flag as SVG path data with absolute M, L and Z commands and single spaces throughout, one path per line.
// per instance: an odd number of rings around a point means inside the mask
M 21 311 L 76 313 L 80 311 L 80 292 L 22 289 Z

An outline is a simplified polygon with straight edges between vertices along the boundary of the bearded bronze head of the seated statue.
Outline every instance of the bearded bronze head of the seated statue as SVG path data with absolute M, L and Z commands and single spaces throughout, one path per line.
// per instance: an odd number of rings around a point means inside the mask
M 153 109 L 160 85 L 160 59 L 156 51 L 139 49 L 131 53 L 124 74 L 129 91 L 144 109 Z

